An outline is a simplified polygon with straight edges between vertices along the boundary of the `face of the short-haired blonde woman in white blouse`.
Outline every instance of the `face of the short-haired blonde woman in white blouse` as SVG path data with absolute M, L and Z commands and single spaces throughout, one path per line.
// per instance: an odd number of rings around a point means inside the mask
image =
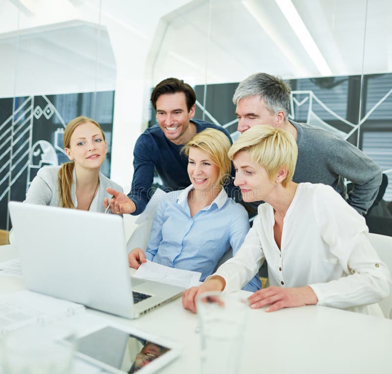
M 268 201 L 276 183 L 270 180 L 266 169 L 255 164 L 245 150 L 235 155 L 233 164 L 236 170 L 234 184 L 241 188 L 244 201 Z

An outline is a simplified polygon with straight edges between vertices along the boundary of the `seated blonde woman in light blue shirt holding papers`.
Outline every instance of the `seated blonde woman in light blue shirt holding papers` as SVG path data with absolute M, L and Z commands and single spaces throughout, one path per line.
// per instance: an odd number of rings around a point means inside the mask
M 201 280 L 212 274 L 230 248 L 240 249 L 249 230 L 245 208 L 228 198 L 223 189 L 230 177 L 228 138 L 216 129 L 206 129 L 184 148 L 192 184 L 177 199 L 164 199 L 153 220 L 146 252 L 132 249 L 129 266 L 139 268 L 150 260 L 173 268 L 200 272 Z M 256 291 L 258 277 L 244 289 Z

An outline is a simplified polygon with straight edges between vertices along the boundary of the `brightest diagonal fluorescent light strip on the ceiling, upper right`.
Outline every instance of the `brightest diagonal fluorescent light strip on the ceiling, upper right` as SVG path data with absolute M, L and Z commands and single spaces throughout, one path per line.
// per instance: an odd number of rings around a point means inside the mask
M 294 7 L 291 0 L 275 0 L 283 15 L 286 17 L 287 22 L 292 27 L 295 35 L 302 43 L 305 50 L 308 52 L 309 57 L 315 63 L 321 75 L 332 75 L 332 71 L 322 56 L 317 44 L 313 40 L 310 32 L 303 23 L 300 15 Z

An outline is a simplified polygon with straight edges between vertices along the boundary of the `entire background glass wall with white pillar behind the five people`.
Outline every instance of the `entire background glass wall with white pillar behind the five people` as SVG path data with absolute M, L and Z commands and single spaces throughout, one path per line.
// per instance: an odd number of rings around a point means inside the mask
M 75 116 L 102 125 L 102 172 L 129 186 L 134 142 L 155 123 L 155 84 L 190 83 L 196 118 L 236 139 L 234 90 L 266 72 L 291 84 L 291 119 L 347 139 L 381 167 L 367 220 L 392 235 L 391 13 L 387 0 L 1 1 L 0 228 L 38 169 L 66 160 L 62 131 Z

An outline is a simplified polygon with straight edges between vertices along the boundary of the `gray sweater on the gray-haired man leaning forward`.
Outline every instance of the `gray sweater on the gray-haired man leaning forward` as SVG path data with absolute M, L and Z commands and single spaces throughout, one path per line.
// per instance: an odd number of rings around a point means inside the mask
M 322 128 L 294 121 L 290 123 L 298 134 L 298 159 L 293 181 L 330 185 L 358 213 L 365 215 L 382 180 L 377 164 L 357 147 Z M 344 178 L 353 183 L 348 196 Z M 259 204 L 260 201 L 256 201 L 248 205 L 254 210 Z

